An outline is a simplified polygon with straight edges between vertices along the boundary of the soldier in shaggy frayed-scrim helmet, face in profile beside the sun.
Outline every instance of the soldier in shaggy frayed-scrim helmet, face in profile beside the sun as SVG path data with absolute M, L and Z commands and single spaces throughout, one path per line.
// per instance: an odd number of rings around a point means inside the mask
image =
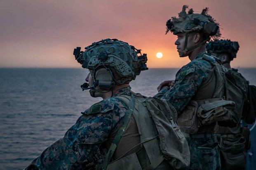
M 188 56 L 188 64 L 178 70 L 175 80 L 158 87 L 155 97 L 166 99 L 178 113 L 178 126 L 190 148 L 189 170 L 221 168 L 218 141 L 214 138 L 216 123 L 233 127 L 238 120 L 233 112 L 235 102 L 226 100 L 224 73 L 220 60 L 206 51 L 210 39 L 219 39 L 219 24 L 207 14 L 184 5 L 178 17 L 167 21 L 167 32 L 177 36 L 175 45 L 180 57 Z

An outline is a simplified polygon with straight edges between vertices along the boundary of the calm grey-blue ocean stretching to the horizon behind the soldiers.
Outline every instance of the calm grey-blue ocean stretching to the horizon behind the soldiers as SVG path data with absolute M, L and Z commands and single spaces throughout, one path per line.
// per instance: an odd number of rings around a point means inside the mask
M 134 92 L 157 93 L 178 69 L 149 69 L 131 82 Z M 256 85 L 256 69 L 239 69 Z M 22 170 L 63 137 L 81 112 L 101 98 L 82 91 L 85 69 L 0 69 L 0 170 Z

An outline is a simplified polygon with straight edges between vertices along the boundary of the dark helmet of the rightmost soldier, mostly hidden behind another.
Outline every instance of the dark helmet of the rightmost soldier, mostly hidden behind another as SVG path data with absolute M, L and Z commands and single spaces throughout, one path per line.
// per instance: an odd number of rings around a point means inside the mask
M 221 39 L 210 41 L 206 46 L 207 52 L 211 53 L 228 53 L 230 57 L 237 57 L 239 44 L 237 41 L 230 41 L 229 39 Z

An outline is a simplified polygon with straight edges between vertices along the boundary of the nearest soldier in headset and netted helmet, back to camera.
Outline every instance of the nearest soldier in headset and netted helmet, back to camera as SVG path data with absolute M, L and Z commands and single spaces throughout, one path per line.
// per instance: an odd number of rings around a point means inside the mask
M 89 69 L 82 90 L 103 100 L 82 112 L 65 136 L 26 170 L 169 170 L 190 162 L 176 110 L 164 100 L 131 91 L 129 82 L 147 70 L 146 54 L 117 39 L 74 49 Z M 167 133 L 168 132 L 168 133 Z

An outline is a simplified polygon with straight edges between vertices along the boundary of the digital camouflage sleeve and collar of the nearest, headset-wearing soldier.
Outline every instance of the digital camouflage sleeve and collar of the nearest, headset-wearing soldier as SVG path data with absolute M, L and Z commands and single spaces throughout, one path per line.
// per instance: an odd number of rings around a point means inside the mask
M 115 96 L 131 95 L 131 87 L 120 89 Z M 127 112 L 127 105 L 111 97 L 92 105 L 82 112 L 77 122 L 65 136 L 45 149 L 26 170 L 80 170 L 94 160 L 94 156 L 106 155 L 101 145 L 110 132 L 118 127 Z M 103 158 L 97 158 L 102 163 Z

